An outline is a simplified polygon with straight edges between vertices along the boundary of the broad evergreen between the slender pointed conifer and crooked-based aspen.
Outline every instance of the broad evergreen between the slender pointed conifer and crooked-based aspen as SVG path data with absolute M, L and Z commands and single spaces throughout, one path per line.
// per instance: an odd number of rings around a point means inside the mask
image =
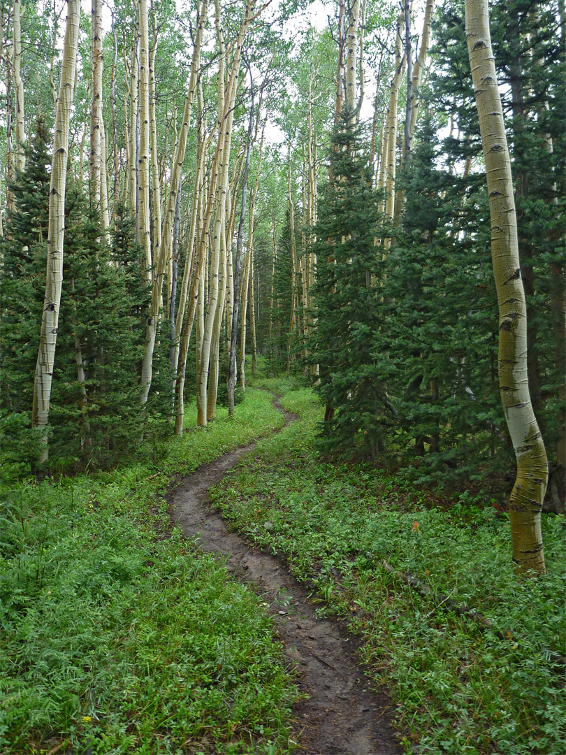
M 511 463 L 499 432 L 487 201 L 477 177 L 440 164 L 437 133 L 427 114 L 403 181 L 404 223 L 386 260 L 380 350 L 398 408 L 401 464 L 436 485 Z

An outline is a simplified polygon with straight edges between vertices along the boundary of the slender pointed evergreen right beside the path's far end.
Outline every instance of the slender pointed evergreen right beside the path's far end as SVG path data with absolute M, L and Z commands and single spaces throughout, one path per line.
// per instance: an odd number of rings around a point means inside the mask
M 383 327 L 381 266 L 374 240 L 379 195 L 352 121 L 352 112 L 345 108 L 331 140 L 331 180 L 318 202 L 309 361 L 319 365 L 315 390 L 333 410 L 322 429 L 321 447 L 343 455 L 371 455 L 383 448 L 384 428 L 395 409 L 377 359 Z

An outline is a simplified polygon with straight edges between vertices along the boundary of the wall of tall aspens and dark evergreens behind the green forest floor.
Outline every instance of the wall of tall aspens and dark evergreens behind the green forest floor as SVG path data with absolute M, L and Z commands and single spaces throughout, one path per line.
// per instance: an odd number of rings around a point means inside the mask
M 320 393 L 322 453 L 510 487 L 463 2 L 0 18 L 6 475 L 115 465 L 180 433 L 193 396 L 200 425 L 233 412 L 260 353 Z M 560 510 L 563 3 L 494 2 L 491 30 Z

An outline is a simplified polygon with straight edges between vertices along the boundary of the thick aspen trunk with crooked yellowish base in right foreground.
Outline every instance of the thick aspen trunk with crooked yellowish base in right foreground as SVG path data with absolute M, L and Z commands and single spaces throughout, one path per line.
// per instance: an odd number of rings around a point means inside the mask
M 527 309 L 509 149 L 491 51 L 488 0 L 466 0 L 466 40 L 488 181 L 491 257 L 499 307 L 500 393 L 517 458 L 517 477 L 509 498 L 513 561 L 519 574 L 542 574 L 540 510 L 548 464 L 528 388 Z

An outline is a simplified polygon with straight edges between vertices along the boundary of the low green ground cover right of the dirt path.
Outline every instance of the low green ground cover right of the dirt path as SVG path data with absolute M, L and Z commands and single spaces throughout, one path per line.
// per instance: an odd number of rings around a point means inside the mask
M 312 584 L 321 613 L 361 633 L 375 683 L 392 685 L 407 752 L 563 753 L 563 519 L 543 519 L 548 574 L 519 581 L 509 520 L 490 501 L 425 495 L 383 470 L 321 463 L 312 393 L 291 390 L 281 403 L 301 420 L 261 442 L 214 501 Z M 408 573 L 429 592 L 406 584 Z M 454 603 L 491 627 L 457 615 Z

